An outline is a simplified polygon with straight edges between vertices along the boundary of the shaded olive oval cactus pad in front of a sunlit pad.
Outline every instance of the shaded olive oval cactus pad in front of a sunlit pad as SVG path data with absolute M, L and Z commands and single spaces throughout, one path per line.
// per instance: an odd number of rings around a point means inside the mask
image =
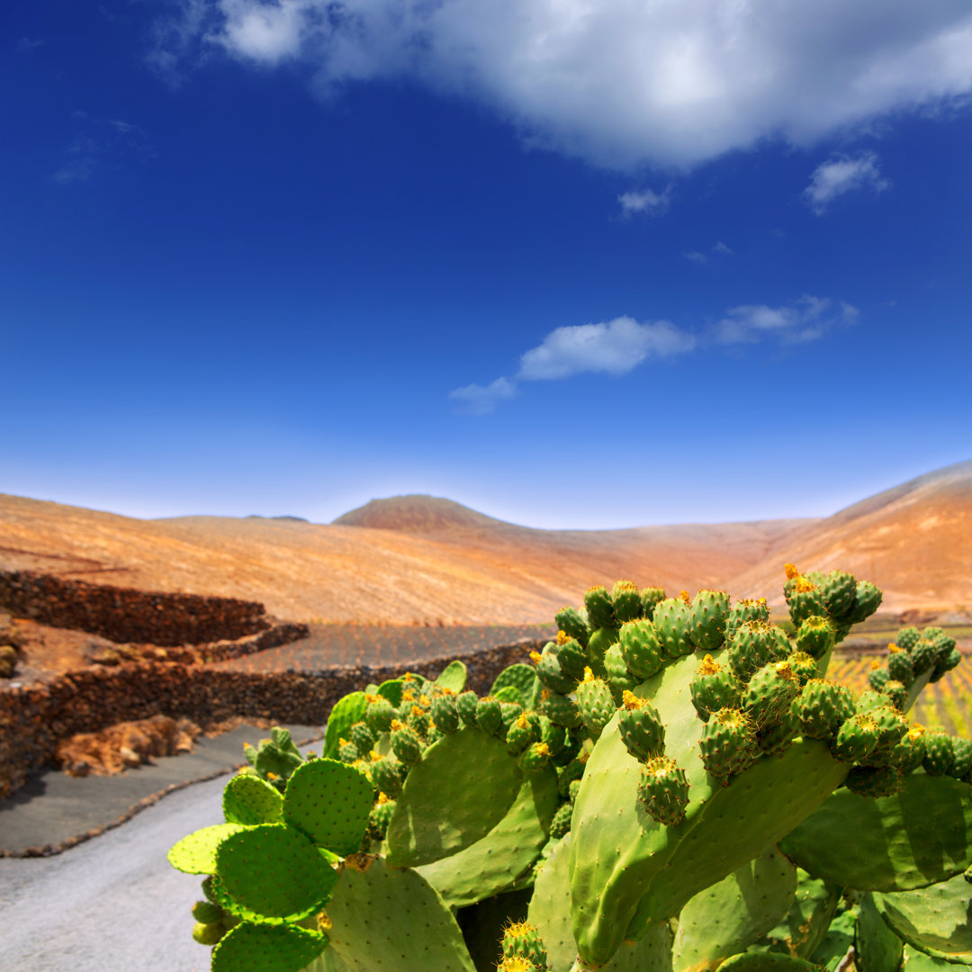
M 418 867 L 468 848 L 506 816 L 521 783 L 501 740 L 469 727 L 445 736 L 408 773 L 388 826 L 388 862 Z

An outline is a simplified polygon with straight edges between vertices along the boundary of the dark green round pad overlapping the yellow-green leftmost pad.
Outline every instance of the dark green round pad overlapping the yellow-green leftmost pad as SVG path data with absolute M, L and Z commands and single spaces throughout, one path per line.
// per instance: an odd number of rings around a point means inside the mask
M 267 920 L 298 920 L 319 911 L 337 873 L 298 830 L 261 823 L 227 837 L 216 852 L 226 892 Z

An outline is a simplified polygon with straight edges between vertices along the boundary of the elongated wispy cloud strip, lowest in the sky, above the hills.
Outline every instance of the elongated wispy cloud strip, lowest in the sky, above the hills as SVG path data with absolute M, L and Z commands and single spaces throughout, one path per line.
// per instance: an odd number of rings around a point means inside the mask
M 640 324 L 627 316 L 557 328 L 521 355 L 519 370 L 512 378 L 497 378 L 485 386 L 466 385 L 450 392 L 449 399 L 457 401 L 466 414 L 488 415 L 500 402 L 519 394 L 518 382 L 556 381 L 585 372 L 620 377 L 652 360 L 688 354 L 707 345 L 754 344 L 766 339 L 811 341 L 837 325 L 852 324 L 857 316 L 857 309 L 846 301 L 804 295 L 782 307 L 732 307 L 701 336 L 670 321 Z

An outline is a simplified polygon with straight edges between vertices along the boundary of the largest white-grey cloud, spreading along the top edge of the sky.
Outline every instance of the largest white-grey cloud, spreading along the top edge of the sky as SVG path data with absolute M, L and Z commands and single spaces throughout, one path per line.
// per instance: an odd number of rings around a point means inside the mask
M 181 2 L 164 68 L 192 30 L 241 59 L 299 60 L 328 95 L 408 77 L 487 104 L 530 145 L 621 169 L 807 145 L 972 91 L 968 0 Z

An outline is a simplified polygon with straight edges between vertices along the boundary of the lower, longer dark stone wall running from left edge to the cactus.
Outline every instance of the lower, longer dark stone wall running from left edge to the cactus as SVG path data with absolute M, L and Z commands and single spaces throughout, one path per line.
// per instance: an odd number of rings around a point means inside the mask
M 380 683 L 405 671 L 434 677 L 457 657 L 469 670 L 469 688 L 483 694 L 507 665 L 524 661 L 542 643 L 518 642 L 399 666 L 318 672 L 258 674 L 202 664 L 140 662 L 96 666 L 47 686 L 9 689 L 0 694 L 0 796 L 9 796 L 32 770 L 50 764 L 58 742 L 76 733 L 156 714 L 186 716 L 204 731 L 234 716 L 322 725 L 338 699 L 368 682 Z

